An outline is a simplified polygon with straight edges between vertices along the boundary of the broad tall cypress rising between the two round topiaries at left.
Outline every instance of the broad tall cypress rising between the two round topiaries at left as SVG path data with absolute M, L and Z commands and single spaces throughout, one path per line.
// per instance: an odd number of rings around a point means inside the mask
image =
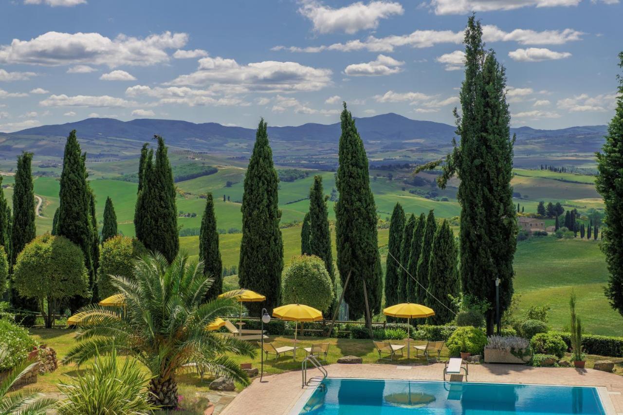
M 90 289 L 95 285 L 92 198 L 93 194 L 87 183 L 85 155 L 80 150 L 76 131 L 72 130 L 65 143 L 63 171 L 60 174 L 57 234 L 66 237 L 82 249 Z M 69 308 L 75 312 L 87 303 L 87 298 L 73 297 L 69 302 Z

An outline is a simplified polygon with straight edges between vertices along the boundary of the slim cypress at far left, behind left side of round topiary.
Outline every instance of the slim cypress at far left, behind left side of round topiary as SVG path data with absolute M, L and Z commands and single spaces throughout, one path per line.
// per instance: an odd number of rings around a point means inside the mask
M 31 174 L 32 153 L 17 157 L 17 170 L 13 187 L 13 221 L 11 224 L 11 272 L 17 255 L 37 235 L 35 227 L 35 195 Z M 21 297 L 11 289 L 11 305 L 17 310 L 39 309 L 37 300 Z

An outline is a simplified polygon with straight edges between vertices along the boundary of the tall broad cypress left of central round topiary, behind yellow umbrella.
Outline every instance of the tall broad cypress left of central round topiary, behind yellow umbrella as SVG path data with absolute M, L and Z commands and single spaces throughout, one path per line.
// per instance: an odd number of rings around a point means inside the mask
M 240 287 L 266 296 L 264 303 L 249 303 L 249 311 L 269 313 L 281 302 L 283 241 L 279 229 L 279 178 L 273 166 L 267 125 L 260 120 L 242 194 L 242 241 L 238 280 Z

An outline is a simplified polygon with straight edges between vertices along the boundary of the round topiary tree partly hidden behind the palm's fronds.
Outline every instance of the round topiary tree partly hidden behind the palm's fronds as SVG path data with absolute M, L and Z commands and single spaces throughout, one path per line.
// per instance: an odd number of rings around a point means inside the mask
M 138 239 L 117 235 L 102 244 L 100 267 L 97 270 L 97 289 L 100 298 L 110 297 L 118 292 L 110 284 L 110 275 L 131 278 L 134 261 L 147 254 L 147 249 Z

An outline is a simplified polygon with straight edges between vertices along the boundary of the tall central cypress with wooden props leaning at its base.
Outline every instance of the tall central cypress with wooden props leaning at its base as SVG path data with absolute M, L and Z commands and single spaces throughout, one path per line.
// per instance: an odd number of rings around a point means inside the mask
M 376 204 L 370 189 L 368 156 L 363 140 L 346 109 L 341 113 L 336 186 L 340 199 L 335 204 L 335 235 L 338 248 L 338 270 L 342 284 L 351 272 L 344 298 L 349 317 L 357 320 L 364 315 L 363 282 L 366 282 L 371 314 L 381 310 L 383 272 L 376 231 Z

